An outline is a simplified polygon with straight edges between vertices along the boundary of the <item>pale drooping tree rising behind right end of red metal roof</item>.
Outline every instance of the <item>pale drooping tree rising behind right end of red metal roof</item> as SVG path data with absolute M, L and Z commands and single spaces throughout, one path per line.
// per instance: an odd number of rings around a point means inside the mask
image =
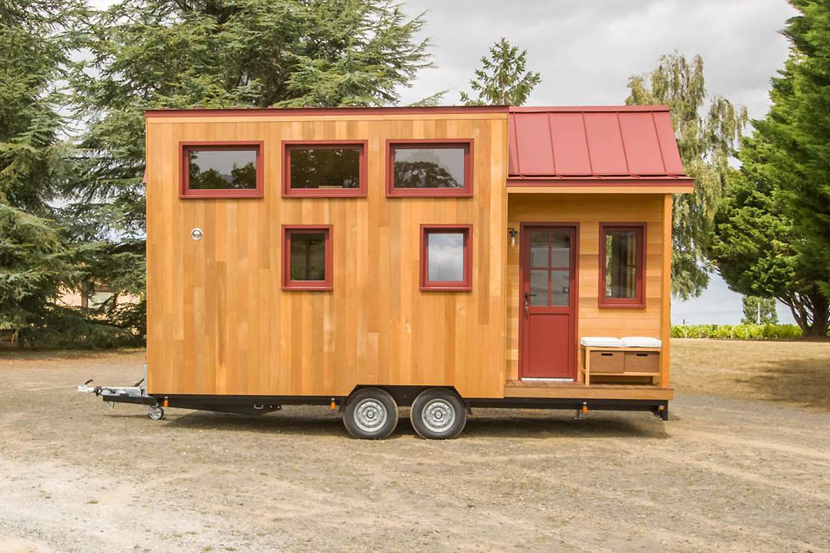
M 715 209 L 731 172 L 730 158 L 747 123 L 746 109 L 715 95 L 708 99 L 701 56 L 691 63 L 677 52 L 662 56 L 657 69 L 628 80 L 626 104 L 667 104 L 677 146 L 695 191 L 674 196 L 672 292 L 696 297 L 709 284 L 706 258 Z

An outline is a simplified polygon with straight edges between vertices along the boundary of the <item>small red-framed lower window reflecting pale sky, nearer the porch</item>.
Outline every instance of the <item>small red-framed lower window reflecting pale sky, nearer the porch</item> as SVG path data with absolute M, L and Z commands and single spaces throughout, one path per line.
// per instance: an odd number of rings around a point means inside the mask
M 421 226 L 421 289 L 472 289 L 472 226 Z

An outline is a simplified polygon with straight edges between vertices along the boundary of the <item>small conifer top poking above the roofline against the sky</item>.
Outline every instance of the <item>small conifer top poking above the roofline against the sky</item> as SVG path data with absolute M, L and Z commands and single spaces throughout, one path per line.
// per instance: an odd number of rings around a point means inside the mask
M 522 105 L 542 76 L 526 71 L 527 51 L 519 51 L 502 36 L 490 47 L 490 57 L 481 58 L 481 69 L 476 69 L 470 86 L 476 98 L 461 92 L 466 105 Z

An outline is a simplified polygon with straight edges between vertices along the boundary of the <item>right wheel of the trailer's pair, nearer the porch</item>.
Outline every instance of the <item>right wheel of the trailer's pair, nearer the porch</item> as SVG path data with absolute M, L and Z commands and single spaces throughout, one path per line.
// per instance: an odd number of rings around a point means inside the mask
M 466 406 L 454 391 L 430 388 L 413 401 L 409 420 L 424 439 L 453 439 L 466 425 Z

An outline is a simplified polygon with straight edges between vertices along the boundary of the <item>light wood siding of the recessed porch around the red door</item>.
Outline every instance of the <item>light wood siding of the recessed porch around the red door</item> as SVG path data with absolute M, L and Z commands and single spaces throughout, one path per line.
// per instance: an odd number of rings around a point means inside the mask
M 518 230 L 520 223 L 569 222 L 579 225 L 579 298 L 577 342 L 583 336 L 648 336 L 663 338 L 667 346 L 668 297 L 664 260 L 666 213 L 663 194 L 510 194 L 507 226 Z M 671 203 L 668 203 L 671 220 Z M 599 224 L 644 222 L 646 228 L 645 308 L 599 308 Z M 507 245 L 506 376 L 519 378 L 519 245 Z M 667 263 L 667 262 L 666 262 Z M 663 276 L 666 274 L 664 281 Z M 663 302 L 666 302 L 665 307 Z M 665 328 L 661 328 L 664 325 Z M 661 332 L 663 330 L 663 332 Z M 574 350 L 579 348 L 574 343 Z M 667 347 L 666 347 L 667 354 Z M 662 386 L 668 385 L 668 355 Z

